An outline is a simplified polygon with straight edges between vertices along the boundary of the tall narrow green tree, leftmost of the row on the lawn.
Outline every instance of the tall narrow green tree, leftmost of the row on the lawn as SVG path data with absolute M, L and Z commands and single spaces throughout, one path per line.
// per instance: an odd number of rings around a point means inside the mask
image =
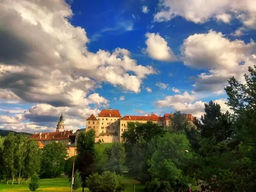
M 15 157 L 16 157 L 16 137 L 13 133 L 8 134 L 3 143 L 3 164 L 5 169 L 5 178 L 12 178 L 12 184 L 14 182 L 14 177 L 17 173 L 17 169 L 15 168 Z

